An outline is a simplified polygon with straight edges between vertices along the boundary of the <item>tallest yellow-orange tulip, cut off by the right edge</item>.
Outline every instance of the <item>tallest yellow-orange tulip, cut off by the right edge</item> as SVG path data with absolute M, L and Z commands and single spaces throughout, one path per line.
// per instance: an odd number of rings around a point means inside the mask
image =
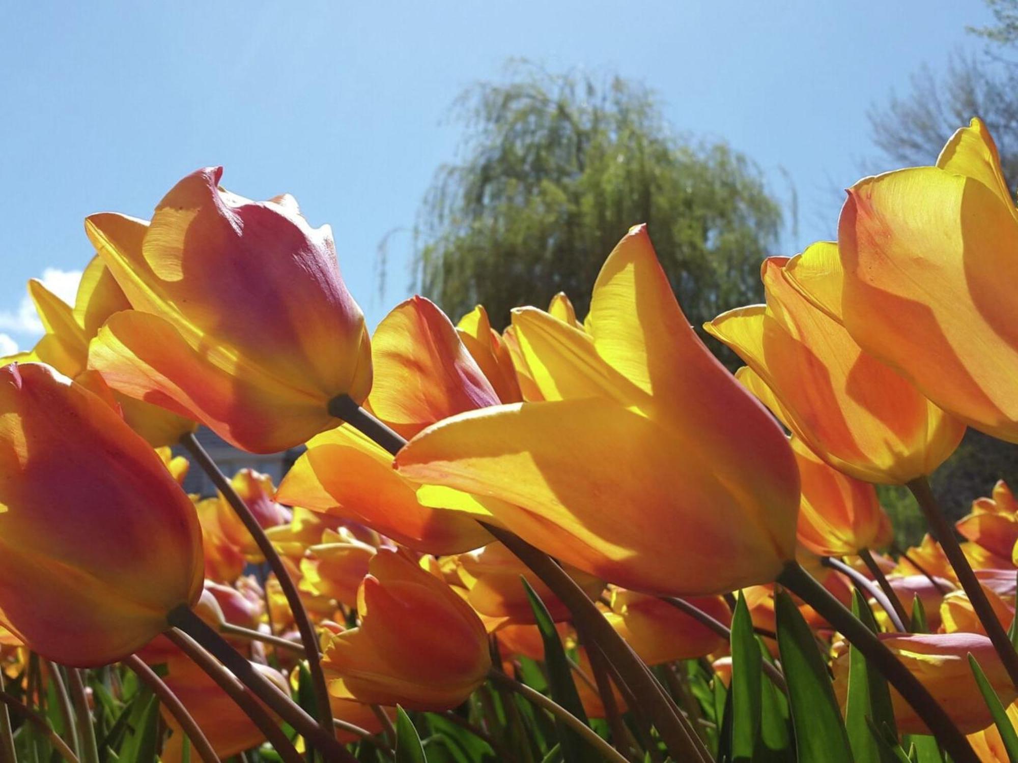
M 803 291 L 945 411 L 1018 442 L 1018 212 L 985 125 L 958 130 L 936 167 L 852 186 L 838 243 L 803 257 Z

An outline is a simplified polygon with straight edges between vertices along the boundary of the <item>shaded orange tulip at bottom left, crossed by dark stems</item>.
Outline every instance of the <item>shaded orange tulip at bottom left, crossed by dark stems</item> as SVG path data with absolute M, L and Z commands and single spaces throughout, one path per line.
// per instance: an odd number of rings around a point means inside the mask
M 286 685 L 286 679 L 279 670 L 258 662 L 251 662 L 251 667 L 289 696 L 290 690 Z M 216 755 L 223 760 L 265 742 L 265 735 L 244 711 L 190 660 L 175 659 L 170 662 L 169 670 L 163 677 L 163 681 L 187 708 L 205 732 Z M 162 714 L 172 733 L 160 754 L 160 760 L 163 763 L 179 763 L 185 760 L 184 731 L 165 707 L 162 708 Z M 190 760 L 194 758 L 192 749 Z

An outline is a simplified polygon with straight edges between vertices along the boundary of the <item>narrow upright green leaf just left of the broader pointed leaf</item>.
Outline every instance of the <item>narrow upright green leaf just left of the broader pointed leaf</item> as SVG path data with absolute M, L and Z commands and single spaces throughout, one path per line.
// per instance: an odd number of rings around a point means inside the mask
M 751 761 L 760 736 L 760 652 L 745 598 L 732 614 L 732 761 Z

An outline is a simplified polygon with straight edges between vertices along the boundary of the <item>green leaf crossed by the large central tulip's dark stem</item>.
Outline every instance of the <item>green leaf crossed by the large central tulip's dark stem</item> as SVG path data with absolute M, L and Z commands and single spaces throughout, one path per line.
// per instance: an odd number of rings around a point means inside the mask
M 921 604 L 919 605 L 921 613 Z M 876 621 L 859 591 L 852 591 L 852 614 L 858 618 L 870 631 L 876 633 Z M 912 622 L 919 623 L 915 606 L 912 607 Z M 849 645 L 848 649 L 848 700 L 845 703 L 845 730 L 856 763 L 897 763 L 897 757 L 887 746 L 881 746 L 870 729 L 888 728 L 897 740 L 894 710 L 891 707 L 891 692 L 880 670 L 874 670 L 858 649 Z

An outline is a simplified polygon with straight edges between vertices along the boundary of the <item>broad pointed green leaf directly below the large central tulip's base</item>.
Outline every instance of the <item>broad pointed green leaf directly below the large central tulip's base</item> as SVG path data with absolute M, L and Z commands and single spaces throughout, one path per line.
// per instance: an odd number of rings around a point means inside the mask
M 791 701 L 800 763 L 852 763 L 848 735 L 835 700 L 827 663 L 791 596 L 775 597 L 778 648 Z

